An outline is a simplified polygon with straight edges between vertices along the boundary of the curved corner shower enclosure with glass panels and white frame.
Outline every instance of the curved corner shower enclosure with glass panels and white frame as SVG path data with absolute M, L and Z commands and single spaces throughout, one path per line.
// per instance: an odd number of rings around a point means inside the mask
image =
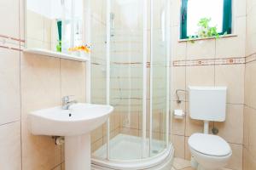
M 91 133 L 92 165 L 168 169 L 170 1 L 85 1 L 90 102 L 114 107 L 108 122 Z

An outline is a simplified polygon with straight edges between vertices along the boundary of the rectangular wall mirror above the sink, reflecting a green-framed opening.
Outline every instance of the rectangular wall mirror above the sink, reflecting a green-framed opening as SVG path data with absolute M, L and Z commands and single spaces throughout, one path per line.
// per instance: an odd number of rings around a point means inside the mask
M 83 6 L 83 0 L 26 0 L 26 48 L 81 56 L 81 47 L 88 50 Z

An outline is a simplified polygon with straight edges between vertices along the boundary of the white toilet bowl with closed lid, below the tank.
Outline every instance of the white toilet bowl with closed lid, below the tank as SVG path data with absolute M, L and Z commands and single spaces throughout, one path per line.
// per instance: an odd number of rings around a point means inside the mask
M 230 160 L 230 144 L 219 136 L 194 133 L 189 137 L 189 149 L 200 170 L 218 170 Z

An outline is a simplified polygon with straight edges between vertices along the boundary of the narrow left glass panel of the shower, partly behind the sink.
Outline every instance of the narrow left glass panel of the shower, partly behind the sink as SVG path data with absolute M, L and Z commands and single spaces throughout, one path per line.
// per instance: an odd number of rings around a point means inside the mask
M 91 62 L 90 62 L 90 102 L 105 105 L 106 100 L 106 1 L 86 0 L 90 4 Z M 102 6 L 99 6 L 101 3 Z M 106 123 L 91 132 L 91 152 L 99 150 L 97 157 L 107 158 Z

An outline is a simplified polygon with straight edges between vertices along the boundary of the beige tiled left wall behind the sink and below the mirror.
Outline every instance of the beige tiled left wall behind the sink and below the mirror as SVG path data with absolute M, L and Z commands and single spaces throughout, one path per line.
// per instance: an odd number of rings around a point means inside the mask
M 0 1 L 0 169 L 61 169 L 63 148 L 27 129 L 30 111 L 85 99 L 81 62 L 23 53 L 24 1 Z

